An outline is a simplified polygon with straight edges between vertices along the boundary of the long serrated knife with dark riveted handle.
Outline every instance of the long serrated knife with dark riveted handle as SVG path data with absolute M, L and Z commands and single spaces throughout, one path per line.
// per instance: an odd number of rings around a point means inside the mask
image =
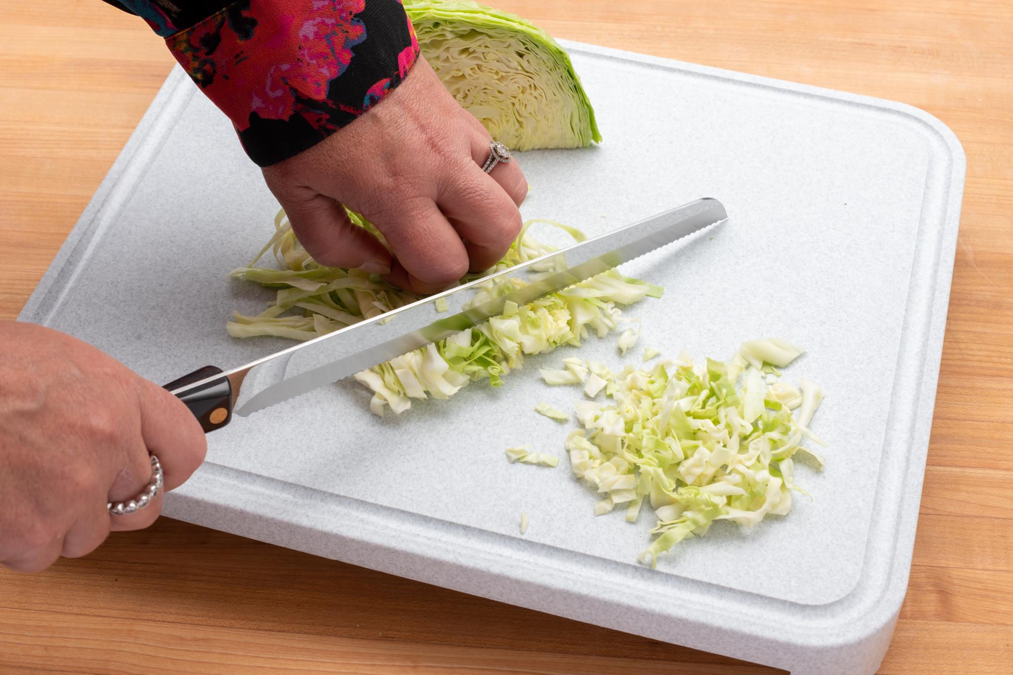
M 186 404 L 205 432 L 212 432 L 228 425 L 233 414 L 246 417 L 336 382 L 501 314 L 508 302 L 528 304 L 726 218 L 720 202 L 700 199 L 245 366 L 227 372 L 206 366 L 166 384 L 165 388 Z M 537 281 L 528 278 L 529 273 L 546 270 Z M 490 298 L 493 294 L 489 289 L 500 285 L 519 288 Z M 437 301 L 441 299 L 448 306 L 443 312 L 437 309 Z

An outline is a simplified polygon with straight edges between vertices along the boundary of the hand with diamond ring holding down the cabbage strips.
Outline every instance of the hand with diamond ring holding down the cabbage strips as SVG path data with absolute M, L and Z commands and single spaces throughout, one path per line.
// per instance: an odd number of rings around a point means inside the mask
M 489 142 L 419 57 L 366 114 L 263 176 L 318 262 L 434 293 L 498 262 L 521 229 L 528 182 L 517 160 L 482 171 Z M 393 259 L 342 204 L 383 233 Z

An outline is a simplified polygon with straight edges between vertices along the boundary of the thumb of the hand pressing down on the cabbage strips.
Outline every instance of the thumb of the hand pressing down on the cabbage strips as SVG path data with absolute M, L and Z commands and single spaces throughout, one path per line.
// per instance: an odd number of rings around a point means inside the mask
M 300 199 L 280 197 L 299 243 L 320 265 L 390 274 L 390 252 L 366 228 L 354 225 L 340 202 L 304 188 Z

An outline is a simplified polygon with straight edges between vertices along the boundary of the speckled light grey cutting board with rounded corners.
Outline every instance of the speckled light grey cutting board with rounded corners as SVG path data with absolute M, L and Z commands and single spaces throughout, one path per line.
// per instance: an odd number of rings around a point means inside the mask
M 716 524 L 656 570 L 636 561 L 653 519 L 595 518 L 566 467 L 575 388 L 539 367 L 621 358 L 615 336 L 526 360 L 399 417 L 352 381 L 209 438 L 208 461 L 167 496 L 171 517 L 796 673 L 872 672 L 908 581 L 956 242 L 964 158 L 922 110 L 564 43 L 605 142 L 521 153 L 526 218 L 599 234 L 699 197 L 729 219 L 623 272 L 665 286 L 626 310 L 640 346 L 730 357 L 779 336 L 820 382 L 812 494 L 753 529 Z M 272 292 L 226 279 L 259 250 L 278 205 L 229 122 L 169 76 L 21 320 L 68 331 L 155 381 L 240 365 L 290 343 L 235 341 L 233 309 Z M 550 231 L 540 231 L 553 240 Z M 546 469 L 506 462 L 534 445 Z M 521 512 L 531 517 L 520 533 Z M 335 589 L 335 593 L 340 592 Z

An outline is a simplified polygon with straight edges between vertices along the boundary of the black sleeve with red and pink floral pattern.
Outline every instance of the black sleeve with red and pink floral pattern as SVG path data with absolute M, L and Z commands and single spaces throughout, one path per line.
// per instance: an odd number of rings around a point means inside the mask
M 326 138 L 408 74 L 400 0 L 105 0 L 144 18 L 267 166 Z

